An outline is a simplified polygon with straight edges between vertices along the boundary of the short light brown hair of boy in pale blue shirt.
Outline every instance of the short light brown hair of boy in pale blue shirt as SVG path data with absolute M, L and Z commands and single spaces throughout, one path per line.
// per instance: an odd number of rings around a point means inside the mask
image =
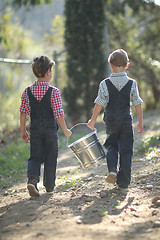
M 117 49 L 109 55 L 108 62 L 115 67 L 126 67 L 129 63 L 128 54 L 123 49 Z

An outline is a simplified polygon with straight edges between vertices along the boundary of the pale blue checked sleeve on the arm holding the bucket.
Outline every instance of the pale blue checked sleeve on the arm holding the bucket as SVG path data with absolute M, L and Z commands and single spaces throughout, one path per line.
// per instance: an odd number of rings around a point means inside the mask
M 109 102 L 108 89 L 107 89 L 105 80 L 103 80 L 99 85 L 98 95 L 97 95 L 94 103 L 105 108 L 107 106 L 108 102 Z

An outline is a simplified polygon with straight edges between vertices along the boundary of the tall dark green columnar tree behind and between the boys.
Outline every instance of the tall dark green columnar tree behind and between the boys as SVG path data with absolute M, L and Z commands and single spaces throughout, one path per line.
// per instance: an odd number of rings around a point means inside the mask
M 104 0 L 65 1 L 68 82 L 64 99 L 73 123 L 91 117 L 98 82 L 105 77 L 104 6 Z

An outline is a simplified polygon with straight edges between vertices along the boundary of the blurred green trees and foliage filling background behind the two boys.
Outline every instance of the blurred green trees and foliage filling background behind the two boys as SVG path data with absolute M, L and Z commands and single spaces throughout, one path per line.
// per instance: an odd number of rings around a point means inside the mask
M 58 4 L 63 14 L 58 11 L 52 14 Z M 34 9 L 39 9 L 39 13 L 33 12 Z M 56 50 L 57 85 L 72 123 L 88 120 L 98 85 L 109 75 L 107 57 L 116 48 L 123 48 L 129 54 L 127 74 L 138 83 L 144 110 L 159 107 L 160 6 L 155 1 L 94 0 L 93 4 L 92 0 L 2 0 L 0 11 L 0 58 L 32 59 L 42 54 L 53 58 Z M 53 16 L 47 20 L 49 11 Z M 94 17 L 97 13 L 99 18 Z M 28 27 L 25 25 L 27 16 L 30 18 Z M 71 17 L 74 21 L 70 21 Z M 102 21 L 101 28 L 98 22 L 92 21 L 95 18 Z M 43 19 L 47 21 L 44 26 Z M 41 28 L 40 34 L 38 28 Z M 94 45 L 98 40 L 99 45 Z M 92 42 L 93 47 L 86 46 L 86 41 Z M 73 63 L 77 62 L 76 68 Z M 20 97 L 23 89 L 34 80 L 30 64 L 0 62 L 1 133 L 19 127 Z M 55 78 L 51 84 L 55 84 Z M 88 95 L 87 87 L 92 89 Z M 85 95 L 79 94 L 84 91 Z

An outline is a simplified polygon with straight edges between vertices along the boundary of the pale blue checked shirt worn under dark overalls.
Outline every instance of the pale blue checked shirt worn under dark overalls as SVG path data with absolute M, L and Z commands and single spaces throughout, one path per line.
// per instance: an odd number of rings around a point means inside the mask
M 133 80 L 133 84 L 132 84 L 131 93 L 130 93 L 130 102 L 131 102 L 131 105 L 137 106 L 141 104 L 143 101 L 139 96 L 139 91 L 138 91 L 136 81 L 134 79 L 132 80 Z M 125 72 L 111 73 L 110 81 L 120 91 L 129 81 L 129 77 Z M 94 103 L 101 105 L 105 108 L 108 102 L 109 102 L 109 93 L 108 93 L 107 85 L 104 79 L 99 85 L 98 96 L 96 97 Z

